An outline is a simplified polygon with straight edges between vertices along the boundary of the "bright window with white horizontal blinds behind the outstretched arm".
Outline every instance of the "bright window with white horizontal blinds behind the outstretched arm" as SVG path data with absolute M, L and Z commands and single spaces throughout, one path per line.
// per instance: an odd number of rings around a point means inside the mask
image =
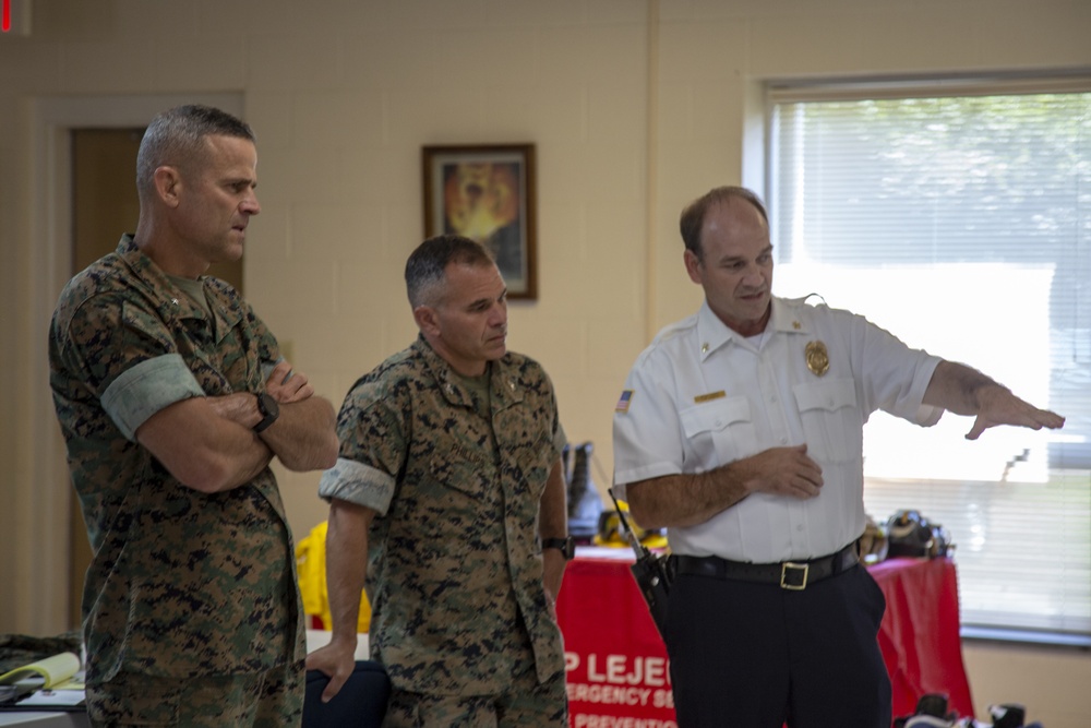
M 1091 84 L 784 86 L 768 108 L 776 293 L 1067 417 L 970 442 L 970 418 L 877 413 L 868 513 L 950 530 L 963 623 L 1091 634 Z

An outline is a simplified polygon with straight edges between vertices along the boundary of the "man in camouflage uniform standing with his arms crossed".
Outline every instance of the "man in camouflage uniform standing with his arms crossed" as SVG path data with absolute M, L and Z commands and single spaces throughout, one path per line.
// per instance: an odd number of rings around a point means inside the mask
M 250 128 L 156 117 L 135 235 L 76 275 L 50 385 L 94 558 L 83 598 L 95 725 L 285 726 L 302 713 L 302 610 L 273 457 L 336 461 L 334 409 L 253 309 L 204 276 L 260 212 Z

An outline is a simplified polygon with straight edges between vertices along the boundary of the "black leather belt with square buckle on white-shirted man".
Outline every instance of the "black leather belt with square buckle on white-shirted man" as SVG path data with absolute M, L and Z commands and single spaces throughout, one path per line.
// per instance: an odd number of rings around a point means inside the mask
M 810 561 L 784 561 L 782 563 L 745 563 L 728 561 L 719 557 L 671 557 L 676 574 L 693 574 L 711 578 L 733 578 L 741 582 L 777 584 L 782 589 L 799 592 L 808 584 L 820 582 L 848 571 L 859 563 L 856 545 L 849 544 L 837 553 L 811 559 Z

